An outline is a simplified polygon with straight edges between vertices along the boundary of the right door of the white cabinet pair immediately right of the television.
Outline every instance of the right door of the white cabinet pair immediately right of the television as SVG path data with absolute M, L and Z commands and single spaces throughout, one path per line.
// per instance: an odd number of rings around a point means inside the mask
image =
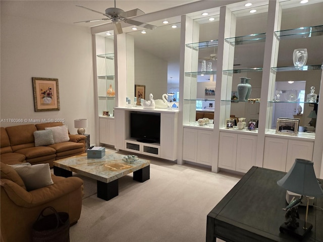
M 211 165 L 212 164 L 212 139 L 211 131 L 198 131 L 197 137 L 197 163 Z

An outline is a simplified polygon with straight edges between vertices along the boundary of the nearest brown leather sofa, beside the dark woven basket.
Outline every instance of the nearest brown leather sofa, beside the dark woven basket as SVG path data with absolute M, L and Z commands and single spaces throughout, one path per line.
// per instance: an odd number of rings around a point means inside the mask
M 70 224 L 81 215 L 83 181 L 51 175 L 53 185 L 27 191 L 17 171 L 1 162 L 1 241 L 31 242 L 32 225 L 47 206 L 67 212 Z

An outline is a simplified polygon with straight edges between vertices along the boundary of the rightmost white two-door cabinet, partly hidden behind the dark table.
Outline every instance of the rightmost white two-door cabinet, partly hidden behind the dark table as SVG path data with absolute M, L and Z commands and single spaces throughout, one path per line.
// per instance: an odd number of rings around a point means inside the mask
M 263 167 L 289 171 L 296 158 L 312 160 L 314 141 L 265 137 Z

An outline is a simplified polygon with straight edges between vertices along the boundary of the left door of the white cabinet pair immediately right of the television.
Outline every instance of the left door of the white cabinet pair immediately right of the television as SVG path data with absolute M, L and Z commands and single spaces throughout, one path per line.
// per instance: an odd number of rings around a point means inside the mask
M 185 129 L 183 134 L 183 160 L 196 162 L 197 133 L 195 129 Z

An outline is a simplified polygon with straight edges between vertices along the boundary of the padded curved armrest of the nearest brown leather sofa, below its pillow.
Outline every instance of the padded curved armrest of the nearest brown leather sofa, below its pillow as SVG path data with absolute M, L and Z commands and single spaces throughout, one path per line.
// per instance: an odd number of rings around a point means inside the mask
M 32 208 L 60 198 L 82 187 L 83 180 L 79 177 L 67 177 L 55 184 L 27 192 L 11 180 L 1 179 L 0 185 L 8 197 L 20 207 Z

